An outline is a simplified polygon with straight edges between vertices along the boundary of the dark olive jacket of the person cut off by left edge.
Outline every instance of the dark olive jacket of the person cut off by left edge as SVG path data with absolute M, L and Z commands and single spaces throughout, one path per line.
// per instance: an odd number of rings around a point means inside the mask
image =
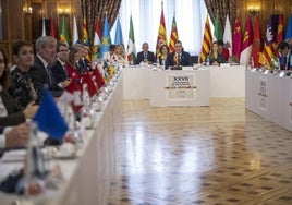
M 0 117 L 0 126 L 13 126 L 25 122 L 25 117 L 22 112 L 23 108 L 15 102 L 15 100 L 8 93 L 8 91 L 2 89 L 0 92 L 0 96 L 8 111 L 7 117 Z

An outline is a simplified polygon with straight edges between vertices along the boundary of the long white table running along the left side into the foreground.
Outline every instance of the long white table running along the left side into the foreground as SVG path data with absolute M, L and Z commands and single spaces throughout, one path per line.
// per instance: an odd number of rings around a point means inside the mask
M 96 125 L 84 131 L 84 144 L 74 159 L 51 159 L 49 167 L 59 165 L 64 180 L 59 189 L 47 190 L 39 196 L 22 197 L 0 192 L 0 204 L 41 205 L 106 205 L 115 165 L 115 138 L 120 134 L 123 77 L 120 76 L 104 108 L 95 118 Z M 0 158 L 0 181 L 13 170 L 24 167 L 22 156 Z M 15 160 L 16 159 L 16 160 Z

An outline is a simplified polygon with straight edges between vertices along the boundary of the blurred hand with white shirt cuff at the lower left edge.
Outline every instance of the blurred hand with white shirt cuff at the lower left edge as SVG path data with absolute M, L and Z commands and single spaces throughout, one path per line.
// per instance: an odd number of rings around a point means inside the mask
M 25 123 L 14 126 L 5 134 L 5 147 L 23 147 L 28 143 L 28 128 Z

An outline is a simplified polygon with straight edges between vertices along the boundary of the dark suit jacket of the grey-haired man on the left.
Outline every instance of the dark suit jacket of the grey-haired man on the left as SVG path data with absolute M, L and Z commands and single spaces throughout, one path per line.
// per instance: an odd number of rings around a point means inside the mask
M 63 88 L 56 83 L 52 75 L 50 81 L 49 73 L 47 72 L 44 63 L 37 56 L 35 57 L 35 63 L 29 69 L 28 73 L 33 80 L 38 100 L 40 100 L 44 96 L 44 86 L 46 84 L 48 85 L 53 97 L 60 97 L 62 95 Z

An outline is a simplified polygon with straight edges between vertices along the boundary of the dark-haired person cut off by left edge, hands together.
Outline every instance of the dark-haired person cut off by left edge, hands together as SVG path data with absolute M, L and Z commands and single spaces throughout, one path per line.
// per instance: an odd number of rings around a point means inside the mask
M 38 106 L 29 102 L 25 109 L 19 106 L 8 93 L 10 71 L 5 67 L 7 58 L 0 49 L 0 128 L 17 125 L 35 116 Z

